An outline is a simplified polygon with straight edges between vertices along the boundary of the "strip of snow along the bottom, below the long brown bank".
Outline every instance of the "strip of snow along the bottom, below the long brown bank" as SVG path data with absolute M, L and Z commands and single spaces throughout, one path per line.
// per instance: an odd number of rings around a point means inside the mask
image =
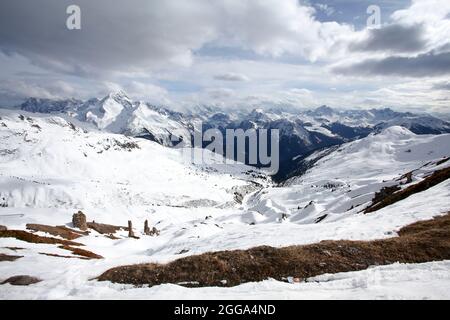
M 38 257 L 34 257 L 38 260 Z M 28 266 L 33 261 L 28 258 Z M 60 270 L 76 274 L 78 266 L 61 265 Z M 37 267 L 41 266 L 38 263 Z M 31 268 L 30 268 L 31 269 Z M 30 273 L 20 268 L 18 272 Z M 56 269 L 56 268 L 55 268 Z M 105 284 L 83 281 L 78 277 L 54 277 L 46 283 L 33 286 L 8 286 L 0 290 L 0 299 L 154 299 L 154 300 L 281 300 L 281 299 L 383 299 L 383 300 L 429 300 L 450 299 L 450 261 L 421 264 L 392 264 L 338 274 L 326 274 L 299 284 L 290 284 L 268 279 L 262 282 L 242 284 L 232 288 L 185 288 L 173 284 L 155 287 Z

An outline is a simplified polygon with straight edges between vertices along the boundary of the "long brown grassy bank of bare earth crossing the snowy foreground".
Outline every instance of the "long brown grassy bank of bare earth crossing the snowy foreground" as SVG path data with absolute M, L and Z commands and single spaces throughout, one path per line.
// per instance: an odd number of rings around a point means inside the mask
M 414 223 L 402 228 L 398 234 L 399 237 L 374 241 L 322 241 L 279 249 L 263 246 L 205 253 L 168 264 L 117 267 L 98 279 L 150 286 L 194 282 L 198 286 L 235 286 L 267 278 L 306 279 L 395 262 L 450 259 L 450 214 Z

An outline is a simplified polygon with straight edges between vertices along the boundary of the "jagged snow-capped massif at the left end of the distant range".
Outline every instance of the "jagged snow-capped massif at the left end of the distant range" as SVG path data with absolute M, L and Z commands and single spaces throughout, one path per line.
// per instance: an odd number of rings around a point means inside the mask
M 103 99 L 42 100 L 31 98 L 20 109 L 28 112 L 67 114 L 92 123 L 98 129 L 128 136 L 141 136 L 165 146 L 190 145 L 191 125 L 180 113 L 132 101 L 124 92 Z

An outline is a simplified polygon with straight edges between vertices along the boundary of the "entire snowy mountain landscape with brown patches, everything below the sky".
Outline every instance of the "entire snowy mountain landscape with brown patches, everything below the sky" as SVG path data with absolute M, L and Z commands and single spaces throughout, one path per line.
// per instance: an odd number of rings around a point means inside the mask
M 0 109 L 0 298 L 450 298 L 447 122 L 208 110 Z M 199 121 L 282 129 L 286 170 L 190 163 Z

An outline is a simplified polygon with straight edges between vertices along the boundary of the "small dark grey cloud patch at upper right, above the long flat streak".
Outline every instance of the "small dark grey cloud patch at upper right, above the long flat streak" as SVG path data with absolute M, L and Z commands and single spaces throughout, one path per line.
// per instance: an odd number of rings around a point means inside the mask
M 425 48 L 425 31 L 422 25 L 392 24 L 369 30 L 363 41 L 350 45 L 353 51 L 417 52 Z

